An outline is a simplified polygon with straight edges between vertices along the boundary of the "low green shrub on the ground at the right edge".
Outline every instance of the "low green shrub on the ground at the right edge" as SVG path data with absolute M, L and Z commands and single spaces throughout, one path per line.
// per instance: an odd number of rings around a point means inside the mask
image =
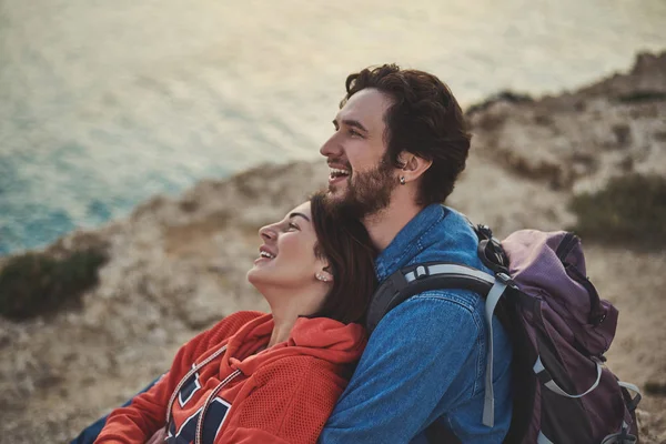
M 575 196 L 571 209 L 578 216 L 572 230 L 584 239 L 649 250 L 666 243 L 665 178 L 622 176 L 597 193 Z

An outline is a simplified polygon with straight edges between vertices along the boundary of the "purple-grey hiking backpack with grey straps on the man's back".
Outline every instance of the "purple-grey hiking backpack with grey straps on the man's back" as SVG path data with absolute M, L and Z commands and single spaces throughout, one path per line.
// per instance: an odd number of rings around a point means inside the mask
M 472 225 L 472 224 L 471 224 Z M 638 389 L 604 365 L 617 310 L 586 278 L 581 241 L 564 231 L 522 230 L 500 243 L 485 225 L 472 225 L 478 254 L 494 275 L 467 265 L 414 264 L 392 274 L 371 301 L 369 333 L 401 302 L 428 290 L 458 289 L 485 297 L 488 326 L 483 424 L 493 426 L 493 331 L 497 315 L 513 344 L 513 417 L 506 443 L 638 441 Z M 636 393 L 632 397 L 628 391 Z M 431 442 L 460 442 L 433 423 Z

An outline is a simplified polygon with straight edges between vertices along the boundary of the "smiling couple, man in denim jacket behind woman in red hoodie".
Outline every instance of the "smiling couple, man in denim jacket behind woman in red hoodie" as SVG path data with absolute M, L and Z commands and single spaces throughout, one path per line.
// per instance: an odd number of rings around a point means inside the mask
M 484 300 L 416 294 L 363 327 L 377 283 L 431 261 L 487 270 L 464 216 L 442 205 L 470 149 L 436 77 L 396 65 L 346 79 L 320 152 L 329 190 L 262 228 L 248 280 L 270 314 L 240 312 L 192 339 L 98 443 L 500 443 L 512 347 L 493 320 L 495 421 L 483 425 Z M 80 441 L 83 442 L 83 441 Z

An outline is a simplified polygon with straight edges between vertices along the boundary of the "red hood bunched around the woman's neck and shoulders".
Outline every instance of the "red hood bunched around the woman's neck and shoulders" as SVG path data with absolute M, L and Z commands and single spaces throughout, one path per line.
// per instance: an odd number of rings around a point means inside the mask
M 286 341 L 251 354 L 268 345 L 273 326 L 271 314 L 243 325 L 230 337 L 222 365 L 249 376 L 261 365 L 294 355 L 310 355 L 336 365 L 349 364 L 357 361 L 365 349 L 365 329 L 360 324 L 343 324 L 329 317 L 299 317 Z

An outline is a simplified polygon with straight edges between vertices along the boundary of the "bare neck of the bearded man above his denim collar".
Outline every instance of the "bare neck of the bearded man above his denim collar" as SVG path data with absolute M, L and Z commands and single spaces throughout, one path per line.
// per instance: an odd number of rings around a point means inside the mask
M 395 193 L 391 199 L 391 204 L 375 214 L 365 216 L 363 225 L 365 225 L 374 246 L 379 251 L 384 251 L 421 210 L 423 206 L 417 205 L 413 196 L 407 193 Z

